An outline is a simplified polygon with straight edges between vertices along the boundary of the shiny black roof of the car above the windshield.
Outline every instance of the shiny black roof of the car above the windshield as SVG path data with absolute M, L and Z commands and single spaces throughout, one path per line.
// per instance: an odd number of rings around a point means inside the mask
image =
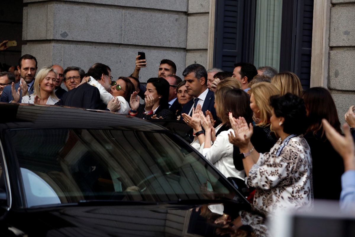
M 0 103 L 0 111 L 0 125 L 10 129 L 166 130 L 160 125 L 130 115 L 65 106 Z

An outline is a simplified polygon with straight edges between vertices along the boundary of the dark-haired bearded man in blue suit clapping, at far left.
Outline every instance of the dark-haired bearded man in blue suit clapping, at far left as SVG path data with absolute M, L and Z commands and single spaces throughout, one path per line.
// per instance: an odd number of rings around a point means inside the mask
M 18 103 L 21 103 L 22 96 L 33 93 L 34 76 L 37 72 L 37 59 L 30 54 L 23 55 L 20 60 L 18 60 L 17 70 L 20 72 L 21 79 L 26 82 L 26 85 L 22 85 L 22 80 L 15 84 L 16 91 L 20 88 L 20 100 Z M 12 100 L 11 86 L 7 86 L 2 91 L 0 102 L 9 103 Z

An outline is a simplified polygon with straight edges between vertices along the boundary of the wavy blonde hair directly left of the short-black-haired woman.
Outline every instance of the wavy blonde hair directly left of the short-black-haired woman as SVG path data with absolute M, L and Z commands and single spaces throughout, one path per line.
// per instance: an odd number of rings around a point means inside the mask
M 280 95 L 280 91 L 269 82 L 259 82 L 251 86 L 252 94 L 256 105 L 260 109 L 261 122 L 258 126 L 267 126 L 270 124 L 272 108 L 270 106 L 270 97 Z

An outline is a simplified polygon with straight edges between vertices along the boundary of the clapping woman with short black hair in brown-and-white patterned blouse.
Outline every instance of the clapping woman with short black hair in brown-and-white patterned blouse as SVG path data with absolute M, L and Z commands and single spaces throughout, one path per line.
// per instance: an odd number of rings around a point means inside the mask
M 243 153 L 246 184 L 256 188 L 253 205 L 268 212 L 306 210 L 313 205 L 312 159 L 302 133 L 307 129 L 302 98 L 286 93 L 270 98 L 271 129 L 280 137 L 269 152 L 258 153 L 250 141 L 253 126 L 229 114 L 229 141 Z

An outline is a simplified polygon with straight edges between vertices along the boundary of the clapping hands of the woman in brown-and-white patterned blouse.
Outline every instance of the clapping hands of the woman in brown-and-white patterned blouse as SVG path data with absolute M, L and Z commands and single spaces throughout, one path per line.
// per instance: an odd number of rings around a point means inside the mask
M 232 113 L 229 113 L 229 121 L 234 131 L 234 134 L 232 132 L 228 134 L 229 142 L 240 149 L 245 149 L 250 143 L 251 135 L 253 135 L 253 125 L 250 123 L 248 126 L 243 117 L 233 118 Z

